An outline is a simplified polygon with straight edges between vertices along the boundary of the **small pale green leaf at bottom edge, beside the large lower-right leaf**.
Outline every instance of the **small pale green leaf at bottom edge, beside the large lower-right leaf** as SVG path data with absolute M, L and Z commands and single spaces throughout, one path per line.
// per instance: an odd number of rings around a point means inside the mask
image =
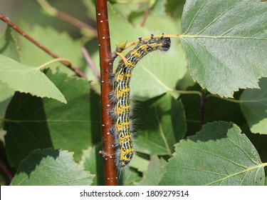
M 150 164 L 147 171 L 145 171 L 142 180 L 137 183 L 139 186 L 157 186 L 159 179 L 162 176 L 162 166 L 166 164 L 166 161 L 159 159 L 157 156 L 151 156 Z

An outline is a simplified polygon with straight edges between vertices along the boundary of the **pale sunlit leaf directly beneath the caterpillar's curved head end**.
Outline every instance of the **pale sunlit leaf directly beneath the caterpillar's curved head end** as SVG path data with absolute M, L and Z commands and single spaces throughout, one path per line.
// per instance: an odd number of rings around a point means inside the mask
M 167 52 L 150 53 L 132 71 L 132 96 L 146 101 L 166 92 L 172 93 L 177 82 L 186 74 L 186 66 L 184 51 L 175 41 Z

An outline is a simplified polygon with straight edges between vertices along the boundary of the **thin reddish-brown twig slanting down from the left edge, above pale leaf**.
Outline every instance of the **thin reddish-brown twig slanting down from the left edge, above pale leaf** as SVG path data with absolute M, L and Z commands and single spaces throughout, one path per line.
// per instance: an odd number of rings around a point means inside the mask
M 51 55 L 54 59 L 58 59 L 58 56 L 56 54 L 53 54 L 50 50 L 48 50 L 45 46 L 41 45 L 40 43 L 38 43 L 38 41 L 34 40 L 31 36 L 29 36 L 28 34 L 26 34 L 24 31 L 22 31 L 21 29 L 19 29 L 18 26 L 16 26 L 15 24 L 13 24 L 11 21 L 9 21 L 9 19 L 7 19 L 3 14 L 0 14 L 0 19 L 4 22 L 6 22 L 6 24 L 8 24 L 12 29 L 14 29 L 15 31 L 17 31 L 19 34 L 21 34 L 23 37 L 25 37 L 26 39 L 28 39 L 28 41 L 31 41 L 31 43 L 35 44 L 36 46 L 38 46 L 40 49 L 42 49 L 43 51 L 45 51 L 47 54 Z M 67 66 L 69 69 L 71 69 L 72 71 L 75 72 L 75 74 L 83 79 L 86 79 L 85 74 L 83 74 L 80 70 L 76 69 L 75 67 L 71 66 L 70 63 L 68 63 L 68 61 L 61 61 L 61 63 L 65 66 Z

